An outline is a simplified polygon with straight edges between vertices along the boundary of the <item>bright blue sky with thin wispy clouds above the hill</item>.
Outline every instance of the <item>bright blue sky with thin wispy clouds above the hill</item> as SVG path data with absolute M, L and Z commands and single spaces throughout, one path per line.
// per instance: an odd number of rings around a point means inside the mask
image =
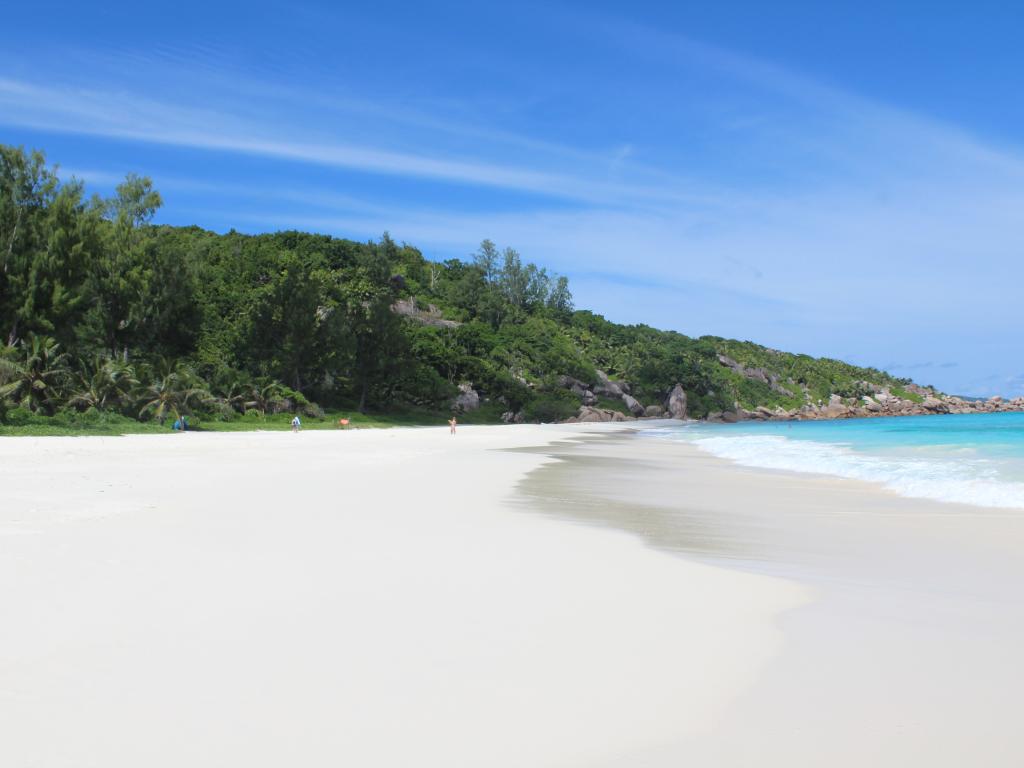
M 490 238 L 614 321 L 1021 394 L 1024 10 L 944 5 L 19 3 L 0 141 L 168 223 Z

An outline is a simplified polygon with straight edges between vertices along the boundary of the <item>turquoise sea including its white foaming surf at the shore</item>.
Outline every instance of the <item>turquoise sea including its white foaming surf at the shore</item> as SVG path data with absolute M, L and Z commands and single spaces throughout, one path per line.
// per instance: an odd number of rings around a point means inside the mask
M 737 464 L 850 477 L 908 497 L 1024 510 L 1024 413 L 649 430 Z

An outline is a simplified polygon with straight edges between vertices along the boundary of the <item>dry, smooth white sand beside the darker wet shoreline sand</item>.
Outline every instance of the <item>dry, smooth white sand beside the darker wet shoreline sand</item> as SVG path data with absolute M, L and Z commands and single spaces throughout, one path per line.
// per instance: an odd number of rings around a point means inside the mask
M 466 427 L 0 440 L 0 763 L 583 766 L 697 733 L 805 590 L 524 514 Z

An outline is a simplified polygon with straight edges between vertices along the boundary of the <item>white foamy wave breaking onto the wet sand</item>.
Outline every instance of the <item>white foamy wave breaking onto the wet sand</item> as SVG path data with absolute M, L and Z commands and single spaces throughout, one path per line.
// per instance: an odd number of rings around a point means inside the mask
M 986 460 L 883 457 L 845 445 L 776 435 L 696 437 L 710 454 L 748 467 L 848 477 L 884 485 L 901 496 L 1000 509 L 1024 509 L 1024 482 L 1000 479 Z

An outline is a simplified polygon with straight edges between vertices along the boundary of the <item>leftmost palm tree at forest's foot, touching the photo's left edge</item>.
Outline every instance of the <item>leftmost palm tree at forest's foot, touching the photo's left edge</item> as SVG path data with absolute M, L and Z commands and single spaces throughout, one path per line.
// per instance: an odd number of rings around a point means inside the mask
M 4 355 L 0 370 L 0 397 L 30 411 L 52 415 L 68 380 L 68 355 L 49 336 L 30 333 L 17 345 L 22 359 Z

